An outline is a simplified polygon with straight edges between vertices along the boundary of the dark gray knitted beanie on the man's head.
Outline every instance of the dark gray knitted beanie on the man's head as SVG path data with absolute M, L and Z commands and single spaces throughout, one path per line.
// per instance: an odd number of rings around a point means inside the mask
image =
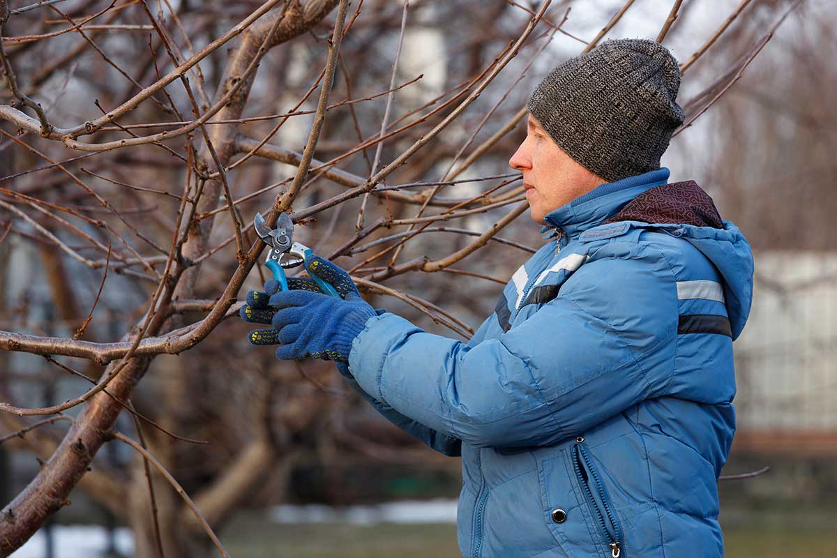
M 683 123 L 680 68 L 654 41 L 607 41 L 547 74 L 528 108 L 567 155 L 608 182 L 660 168 Z

